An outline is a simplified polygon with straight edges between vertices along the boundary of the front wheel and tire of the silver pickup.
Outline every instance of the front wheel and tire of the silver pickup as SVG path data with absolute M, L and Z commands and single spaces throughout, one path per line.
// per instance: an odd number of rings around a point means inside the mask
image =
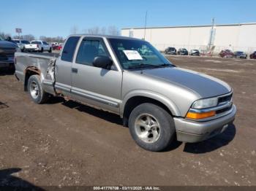
M 159 152 L 170 145 L 176 131 L 173 117 L 165 109 L 146 103 L 132 110 L 129 116 L 129 132 L 140 147 Z

